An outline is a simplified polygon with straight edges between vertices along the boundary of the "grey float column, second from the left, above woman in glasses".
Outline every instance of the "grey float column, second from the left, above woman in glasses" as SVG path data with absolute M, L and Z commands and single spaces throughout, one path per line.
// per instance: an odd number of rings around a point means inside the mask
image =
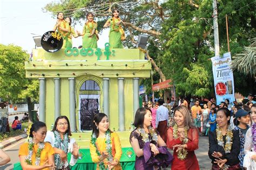
M 60 79 L 54 78 L 54 117 L 60 116 Z

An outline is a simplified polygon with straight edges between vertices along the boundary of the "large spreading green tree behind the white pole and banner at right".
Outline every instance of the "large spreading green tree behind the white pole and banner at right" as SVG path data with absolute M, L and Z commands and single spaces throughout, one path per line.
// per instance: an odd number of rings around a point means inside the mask
M 111 16 L 113 8 L 120 10 L 120 18 L 126 23 L 126 33 L 129 33 L 130 38 L 124 42 L 127 47 L 136 46 L 138 34 L 149 34 L 148 47 L 154 46 L 157 50 L 148 48 L 146 54 L 149 55 L 146 56 L 151 59 L 153 68 L 157 70 L 162 80 L 173 80 L 172 82 L 179 89 L 178 94 L 214 95 L 212 66 L 209 60 L 214 56 L 212 1 L 169 0 L 160 4 L 157 0 L 131 2 L 112 0 L 109 3 L 103 0 L 64 0 L 62 3 L 50 3 L 44 9 L 55 15 L 57 11 L 64 11 L 77 21 L 85 19 L 87 11 L 93 11 L 100 30 L 106 18 Z M 221 53 L 225 53 L 227 49 L 225 15 L 229 18 L 230 47 L 231 54 L 234 55 L 240 53 L 243 47 L 248 45 L 247 40 L 255 35 L 255 11 L 255 3 L 251 0 L 218 1 Z M 200 72 L 207 72 L 209 76 L 208 83 L 204 84 L 204 90 L 200 90 L 201 87 L 197 86 L 200 82 L 189 82 L 191 72 L 196 71 L 195 68 L 200 68 Z M 246 87 L 251 87 L 250 81 L 239 83 L 248 80 L 248 77 L 234 72 L 234 79 L 236 91 L 246 93 Z M 201 81 L 201 79 L 196 80 Z M 187 91 L 184 84 L 193 85 L 191 88 L 195 90 Z

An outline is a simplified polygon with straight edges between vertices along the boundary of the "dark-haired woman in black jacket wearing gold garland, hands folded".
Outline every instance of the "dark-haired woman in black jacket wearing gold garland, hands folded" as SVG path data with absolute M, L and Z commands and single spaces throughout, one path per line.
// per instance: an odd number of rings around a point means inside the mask
M 230 126 L 230 110 L 220 108 L 216 116 L 217 129 L 209 133 L 209 158 L 212 169 L 240 169 L 240 137 Z

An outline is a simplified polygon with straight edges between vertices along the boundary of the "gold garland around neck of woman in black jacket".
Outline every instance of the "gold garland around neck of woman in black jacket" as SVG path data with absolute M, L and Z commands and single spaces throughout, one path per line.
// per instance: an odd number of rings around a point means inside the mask
M 232 147 L 232 137 L 233 137 L 233 132 L 231 126 L 228 126 L 227 132 L 226 132 L 226 144 L 224 146 L 224 141 L 223 141 L 223 135 L 221 133 L 221 129 L 217 125 L 216 129 L 216 136 L 218 140 L 218 145 L 224 147 L 225 153 L 230 153 L 231 147 Z

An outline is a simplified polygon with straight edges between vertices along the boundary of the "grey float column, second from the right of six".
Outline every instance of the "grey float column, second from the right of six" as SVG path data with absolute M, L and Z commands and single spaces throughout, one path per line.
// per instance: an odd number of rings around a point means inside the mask
M 124 78 L 118 78 L 118 116 L 119 131 L 125 131 L 124 128 Z

